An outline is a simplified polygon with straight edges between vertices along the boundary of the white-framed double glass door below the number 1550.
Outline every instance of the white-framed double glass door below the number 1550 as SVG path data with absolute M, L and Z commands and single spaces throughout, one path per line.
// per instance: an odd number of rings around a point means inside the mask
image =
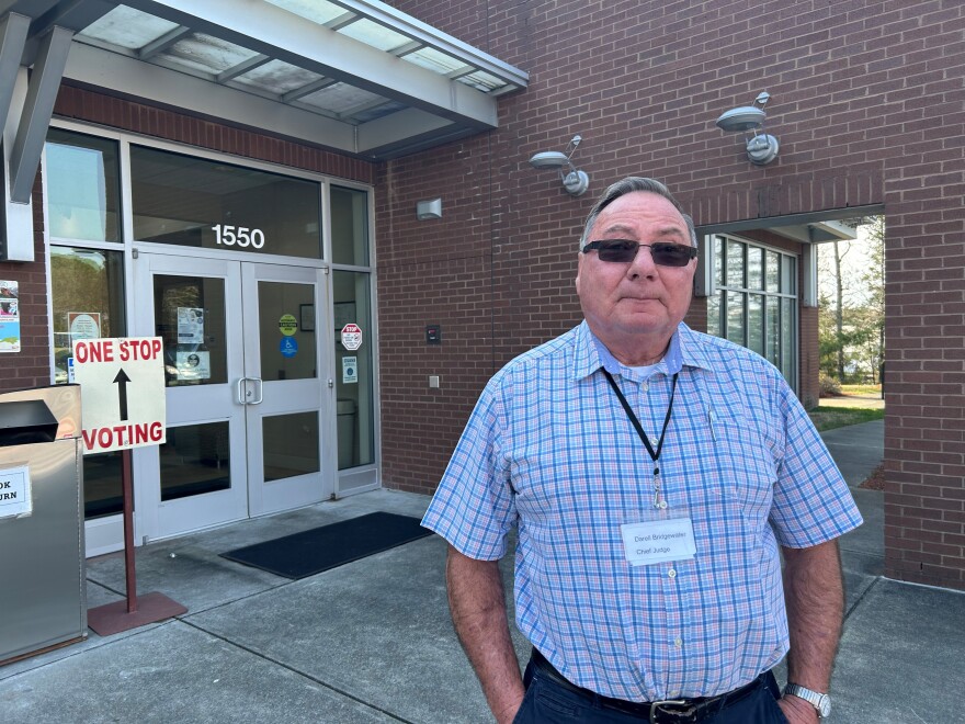
M 330 497 L 321 270 L 144 252 L 135 267 L 137 336 L 163 339 L 167 395 L 167 442 L 136 451 L 136 534 Z

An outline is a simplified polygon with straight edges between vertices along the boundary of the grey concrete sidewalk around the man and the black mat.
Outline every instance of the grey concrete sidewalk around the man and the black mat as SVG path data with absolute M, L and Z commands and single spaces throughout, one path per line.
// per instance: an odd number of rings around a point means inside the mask
M 832 432 L 842 467 L 859 454 L 871 467 L 881 460 L 879 422 Z M 830 721 L 961 721 L 965 595 L 882 578 L 882 494 L 854 494 L 866 523 L 841 540 L 848 616 Z M 439 538 L 297 581 L 218 555 L 375 510 L 420 516 L 428 502 L 379 490 L 138 548 L 139 591 L 161 591 L 188 613 L 107 637 L 90 632 L 0 668 L 0 721 L 491 721 L 449 621 Z M 90 607 L 123 599 L 123 556 L 89 561 L 88 581 Z M 529 644 L 519 635 L 515 644 L 525 660 Z

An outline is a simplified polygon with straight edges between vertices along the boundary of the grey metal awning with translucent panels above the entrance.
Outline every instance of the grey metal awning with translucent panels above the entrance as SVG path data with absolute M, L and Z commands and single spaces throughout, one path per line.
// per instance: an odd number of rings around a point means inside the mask
M 0 0 L 10 13 L 30 20 L 21 65 L 70 31 L 67 81 L 374 160 L 495 128 L 529 80 L 377 0 Z

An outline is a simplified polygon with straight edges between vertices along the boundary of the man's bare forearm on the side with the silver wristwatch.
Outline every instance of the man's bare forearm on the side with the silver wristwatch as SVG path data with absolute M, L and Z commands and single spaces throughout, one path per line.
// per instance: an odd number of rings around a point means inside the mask
M 813 691 L 827 692 L 844 619 L 838 542 L 828 541 L 808 548 L 784 547 L 782 552 L 791 634 L 787 680 Z M 785 697 L 781 708 L 792 724 L 818 720 L 814 706 L 797 697 Z

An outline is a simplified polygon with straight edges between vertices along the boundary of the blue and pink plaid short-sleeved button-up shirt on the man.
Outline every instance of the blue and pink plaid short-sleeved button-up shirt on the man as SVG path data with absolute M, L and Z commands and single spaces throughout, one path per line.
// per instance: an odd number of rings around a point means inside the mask
M 659 457 L 666 511 L 601 366 L 655 448 L 679 372 Z M 689 517 L 696 555 L 631 566 L 620 527 L 655 516 Z M 779 544 L 861 522 L 763 358 L 681 324 L 660 363 L 634 370 L 583 323 L 492 377 L 422 524 L 486 561 L 516 525 L 520 631 L 574 683 L 655 701 L 731 691 L 774 666 L 788 647 Z

